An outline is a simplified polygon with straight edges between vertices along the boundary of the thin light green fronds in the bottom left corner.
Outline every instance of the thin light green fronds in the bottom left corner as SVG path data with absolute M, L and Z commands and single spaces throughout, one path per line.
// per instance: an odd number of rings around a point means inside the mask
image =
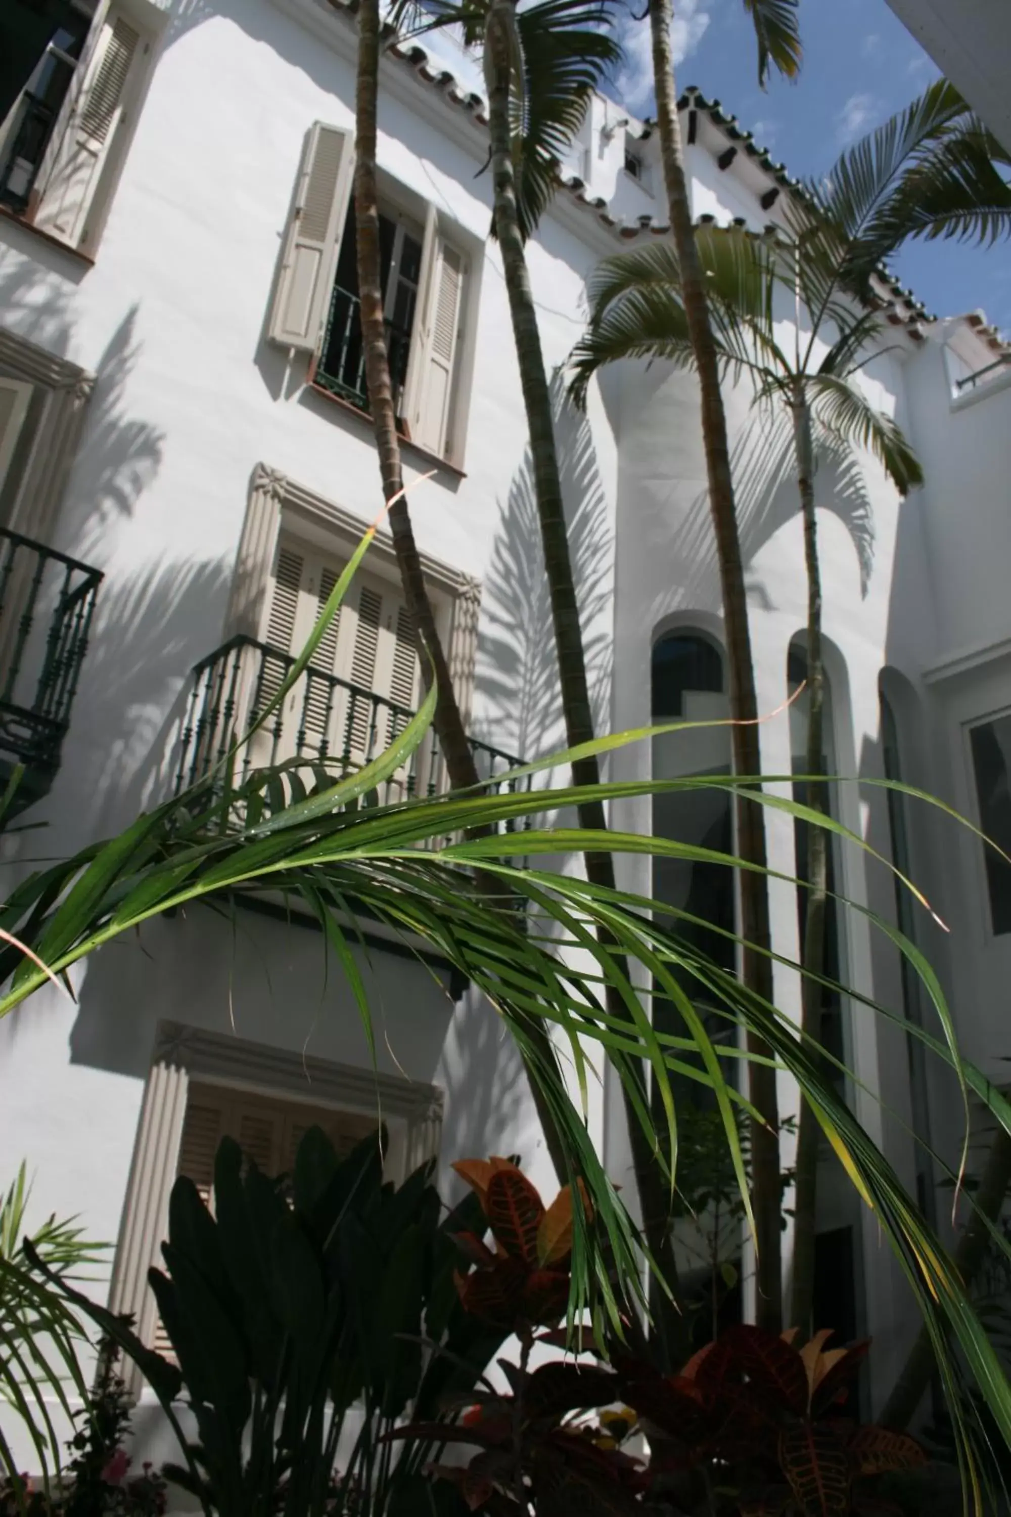
M 23 1162 L 0 1200 L 0 1409 L 8 1408 L 27 1431 L 47 1499 L 50 1475 L 61 1464 L 50 1406 L 56 1403 L 68 1418 L 73 1415 L 68 1387 L 86 1400 L 77 1361 L 85 1335 L 77 1312 L 26 1268 L 23 1238 L 30 1195 Z M 29 1239 L 29 1248 L 45 1261 L 58 1282 L 88 1279 L 108 1248 L 89 1241 L 74 1221 L 49 1217 Z M 2 1423 L 0 1464 L 17 1481 L 17 1462 Z

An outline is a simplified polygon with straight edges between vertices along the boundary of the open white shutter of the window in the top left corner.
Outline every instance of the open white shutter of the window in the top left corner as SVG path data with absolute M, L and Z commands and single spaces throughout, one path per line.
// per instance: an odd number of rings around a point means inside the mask
M 38 228 L 73 246 L 88 240 L 88 212 L 147 46 L 132 21 L 109 12 L 35 214 Z

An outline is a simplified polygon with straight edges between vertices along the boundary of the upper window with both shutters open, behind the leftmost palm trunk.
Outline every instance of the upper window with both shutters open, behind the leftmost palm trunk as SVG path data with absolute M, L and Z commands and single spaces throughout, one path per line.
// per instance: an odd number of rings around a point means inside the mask
M 367 410 L 352 206 L 352 133 L 315 123 L 283 244 L 270 337 L 314 355 L 314 382 Z M 467 387 L 462 331 L 474 297 L 462 234 L 387 181 L 380 197 L 383 314 L 403 434 L 462 461 Z

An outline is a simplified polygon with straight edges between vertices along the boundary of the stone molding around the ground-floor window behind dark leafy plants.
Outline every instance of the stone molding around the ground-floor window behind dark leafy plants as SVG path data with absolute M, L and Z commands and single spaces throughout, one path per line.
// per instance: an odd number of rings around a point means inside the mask
M 168 1232 L 168 1197 L 179 1167 L 186 1094 L 191 1080 L 236 1086 L 259 1095 L 303 1097 L 314 1106 L 382 1117 L 400 1129 L 390 1179 L 400 1180 L 438 1154 L 443 1092 L 435 1085 L 333 1063 L 267 1044 L 161 1021 L 126 1188 L 117 1242 L 109 1309 L 129 1312 L 135 1332 L 150 1344 L 158 1320 L 147 1271 L 161 1265 L 161 1241 Z M 391 1133 L 393 1144 L 393 1133 Z M 133 1399 L 142 1377 L 135 1365 L 121 1370 Z

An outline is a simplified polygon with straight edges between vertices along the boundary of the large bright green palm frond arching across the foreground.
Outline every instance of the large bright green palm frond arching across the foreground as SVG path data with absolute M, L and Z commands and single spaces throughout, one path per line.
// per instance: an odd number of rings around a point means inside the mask
M 261 721 L 285 699 L 305 672 L 361 561 L 364 546 L 341 575 L 309 643 Z M 333 783 L 318 765 L 296 760 L 273 769 L 255 769 L 232 786 L 227 783 L 229 766 L 241 748 L 239 742 L 196 786 L 141 815 L 118 836 L 91 843 L 74 857 L 53 860 L 26 878 L 0 906 L 5 939 L 0 948 L 0 1019 L 47 980 L 62 989 L 61 977 L 71 965 L 117 936 L 139 930 L 153 918 L 179 909 L 191 912 L 200 903 L 227 915 L 236 892 L 280 890 L 285 898 L 299 900 L 320 921 L 324 930 L 320 942 L 332 945 L 370 1042 L 368 992 L 350 947 L 358 912 L 374 915 L 394 931 L 417 934 L 462 974 L 473 977 L 524 1051 L 529 1051 L 526 1027 L 531 1015 L 556 1025 L 568 1039 L 584 1088 L 587 1059 L 582 1048 L 584 1041 L 591 1039 L 623 1080 L 631 1068 L 647 1063 L 661 1089 L 668 1085 L 670 1073 L 678 1073 L 740 1104 L 737 1092 L 723 1082 L 715 1057 L 705 1069 L 682 1057 L 685 1048 L 690 1054 L 696 1048 L 705 1051 L 705 1033 L 694 1044 L 656 1032 L 644 1016 L 635 1025 L 631 1021 L 615 1024 L 602 1004 L 602 983 L 621 983 L 618 953 L 644 972 L 655 974 L 671 998 L 676 998 L 681 977 L 700 968 L 694 953 L 685 953 L 676 936 L 652 921 L 650 901 L 596 889 L 576 875 L 534 866 L 515 868 L 503 862 L 508 856 L 524 853 L 534 859 L 538 854 L 571 857 L 615 846 L 608 833 L 555 830 L 543 824 L 518 834 L 508 830 L 524 818 L 537 821 L 615 795 L 679 789 L 688 793 L 699 781 L 605 784 L 593 795 L 565 786 L 541 792 L 444 795 L 393 806 L 361 806 L 362 795 L 380 795 L 387 780 L 409 762 L 424 740 L 434 708 L 435 692 L 430 690 L 418 715 L 383 754 L 350 774 L 340 772 L 338 766 Z M 609 751 L 623 740 L 603 739 L 596 749 Z M 570 758 L 571 754 L 549 757 L 544 766 L 553 768 Z M 308 793 L 306 781 L 312 786 Z M 741 784 L 734 777 L 718 775 L 706 777 L 705 783 L 731 793 Z M 299 799 L 285 801 L 288 795 Z M 497 833 L 497 828 L 505 831 Z M 462 840 L 453 842 L 453 837 Z M 852 840 L 859 846 L 859 837 Z M 629 840 L 620 839 L 617 845 L 629 846 Z M 703 850 L 685 848 L 681 842 L 652 839 L 647 846 L 658 856 L 703 857 Z M 731 856 L 725 863 L 741 866 L 740 859 Z M 476 869 L 500 872 L 517 895 L 544 913 L 558 936 L 546 941 L 526 931 L 521 918 L 491 906 L 474 889 Z M 590 928 L 597 930 L 596 938 Z M 615 947 L 605 947 L 605 938 Z M 561 954 L 559 945 L 581 948 L 590 963 L 581 966 L 579 960 Z M 919 968 L 912 950 L 909 962 Z M 964 1373 L 979 1388 L 1009 1446 L 1011 1387 L 967 1300 L 955 1264 L 787 1019 L 718 965 L 708 966 L 706 978 L 728 1016 L 743 1029 L 759 1033 L 800 1089 L 817 1101 L 832 1142 L 844 1154 L 882 1235 L 896 1250 L 938 1350 L 959 1453 L 973 1481 L 967 1488 L 976 1494 L 976 1511 L 981 1512 L 975 1452 L 956 1394 L 959 1374 Z M 949 1025 L 943 997 L 937 1004 Z M 922 1030 L 917 1035 L 972 1086 L 1000 1129 L 1011 1133 L 1011 1103 L 988 1085 L 982 1073 L 961 1060 L 953 1047 Z M 708 1054 L 712 1054 L 711 1045 Z M 609 1318 L 617 1326 L 629 1297 L 641 1296 L 641 1256 L 635 1232 L 600 1167 L 584 1112 L 571 1100 L 565 1083 L 555 1069 L 541 1068 L 537 1062 L 534 1071 L 544 1085 L 546 1100 L 564 1136 L 567 1170 L 584 1179 L 593 1208 L 591 1229 L 582 1208 L 573 1217 L 571 1308 L 579 1314 L 584 1306 L 591 1306 L 599 1314 L 597 1320 Z M 643 1109 L 638 1120 L 649 1124 L 650 1112 Z M 737 1176 L 738 1185 L 744 1185 L 743 1170 L 738 1168 Z M 1011 1244 L 1000 1235 L 997 1247 L 1011 1256 Z M 17 1261 L 0 1261 L 0 1294 L 8 1286 L 21 1292 L 26 1285 L 35 1291 L 33 1308 L 52 1312 L 49 1286 L 26 1280 Z M 27 1300 L 27 1296 L 23 1299 Z M 55 1305 L 59 1306 L 59 1300 Z M 61 1326 L 59 1321 L 56 1324 Z M 958 1364 L 946 1341 L 947 1332 L 958 1341 L 962 1355 Z M 21 1402 L 21 1411 L 32 1417 L 27 1402 Z M 0 1440 L 0 1462 L 8 1459 L 9 1449 Z

